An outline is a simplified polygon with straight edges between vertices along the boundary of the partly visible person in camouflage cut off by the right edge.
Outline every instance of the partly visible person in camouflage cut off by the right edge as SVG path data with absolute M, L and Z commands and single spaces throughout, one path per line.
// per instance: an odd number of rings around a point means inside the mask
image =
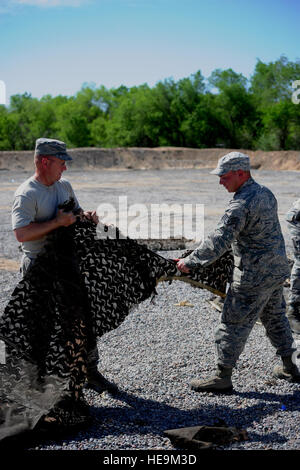
M 288 229 L 293 242 L 294 264 L 291 272 L 291 287 L 287 317 L 294 333 L 300 334 L 300 199 L 294 202 L 286 215 Z

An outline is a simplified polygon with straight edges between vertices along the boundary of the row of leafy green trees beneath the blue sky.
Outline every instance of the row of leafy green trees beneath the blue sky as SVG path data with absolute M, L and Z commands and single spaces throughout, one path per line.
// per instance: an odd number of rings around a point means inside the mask
M 0 150 L 32 150 L 39 137 L 74 147 L 300 149 L 300 61 L 258 60 L 250 79 L 231 68 L 152 88 L 85 84 L 74 96 L 13 95 L 0 106 Z M 300 89 L 300 86 L 298 87 Z M 300 95 L 300 92 L 299 92 Z

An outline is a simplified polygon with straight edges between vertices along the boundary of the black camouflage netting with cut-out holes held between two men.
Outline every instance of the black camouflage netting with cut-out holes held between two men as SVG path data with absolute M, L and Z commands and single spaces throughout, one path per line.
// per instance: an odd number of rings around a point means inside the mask
M 225 292 L 232 264 L 229 253 L 189 277 Z M 33 429 L 49 412 L 57 416 L 53 410 L 60 409 L 66 424 L 80 422 L 80 413 L 62 412 L 57 404 L 82 399 L 91 338 L 117 328 L 134 305 L 155 293 L 159 279 L 175 274 L 173 260 L 128 238 L 98 238 L 92 222 L 52 232 L 0 319 L 6 352 L 0 440 Z

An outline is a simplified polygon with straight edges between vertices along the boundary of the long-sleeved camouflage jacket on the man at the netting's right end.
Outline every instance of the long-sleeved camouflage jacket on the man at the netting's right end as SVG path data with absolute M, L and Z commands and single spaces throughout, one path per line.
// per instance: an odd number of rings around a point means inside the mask
M 253 178 L 235 192 L 216 229 L 185 258 L 185 264 L 207 266 L 230 248 L 233 282 L 240 288 L 271 287 L 290 274 L 277 200 Z

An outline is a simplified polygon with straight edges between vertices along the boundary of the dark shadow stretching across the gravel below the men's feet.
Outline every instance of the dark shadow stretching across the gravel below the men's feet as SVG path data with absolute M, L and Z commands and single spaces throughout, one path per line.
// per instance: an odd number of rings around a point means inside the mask
M 193 410 L 181 410 L 166 403 L 143 399 L 127 392 L 120 392 L 114 398 L 125 403 L 126 407 L 94 407 L 91 406 L 92 422 L 84 428 L 65 430 L 59 434 L 38 434 L 35 431 L 8 439 L 0 443 L 1 451 L 28 450 L 36 446 L 57 445 L 63 442 L 82 442 L 89 439 L 104 439 L 106 436 L 119 435 L 157 435 L 164 437 L 164 431 L 181 427 L 215 425 L 235 426 L 247 431 L 254 422 L 259 422 L 263 417 L 282 411 L 299 411 L 300 390 L 293 395 L 278 395 L 268 392 L 236 392 L 232 395 L 243 399 L 258 400 L 258 403 L 246 407 L 229 407 L 225 403 L 204 404 Z M 272 429 L 264 428 L 262 434 L 250 433 L 249 440 L 261 442 L 263 445 L 270 443 L 284 443 L 284 436 Z M 84 445 L 82 446 L 84 448 Z M 176 447 L 174 447 L 176 449 Z M 122 449 L 122 447 L 120 447 Z

